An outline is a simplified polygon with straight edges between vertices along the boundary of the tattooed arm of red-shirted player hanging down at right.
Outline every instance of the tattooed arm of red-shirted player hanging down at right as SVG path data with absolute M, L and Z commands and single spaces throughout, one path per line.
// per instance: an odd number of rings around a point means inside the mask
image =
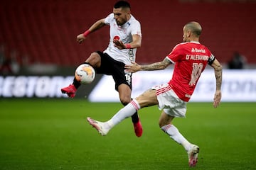
M 214 60 L 213 64 L 210 65 L 213 67 L 215 72 L 215 79 L 216 79 L 216 91 L 213 98 L 213 107 L 217 108 L 220 104 L 221 100 L 221 84 L 222 84 L 222 66 L 218 60 Z

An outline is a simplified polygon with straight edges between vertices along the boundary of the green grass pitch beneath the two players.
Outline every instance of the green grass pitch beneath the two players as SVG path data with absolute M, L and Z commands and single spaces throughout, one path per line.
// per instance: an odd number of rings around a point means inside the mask
M 0 99 L 0 169 L 191 169 L 181 145 L 159 129 L 156 106 L 105 137 L 86 121 L 108 120 L 122 105 L 74 99 Z M 256 169 L 256 103 L 188 103 L 174 125 L 200 147 L 193 169 Z

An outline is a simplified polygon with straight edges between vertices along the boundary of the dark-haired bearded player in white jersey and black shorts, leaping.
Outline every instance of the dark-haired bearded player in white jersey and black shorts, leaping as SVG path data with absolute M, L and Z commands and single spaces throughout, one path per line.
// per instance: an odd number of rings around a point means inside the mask
M 113 12 L 92 24 L 85 33 L 78 35 L 77 41 L 82 43 L 87 35 L 104 26 L 110 26 L 110 43 L 107 49 L 104 52 L 92 52 L 85 63 L 94 67 L 96 73 L 112 75 L 119 99 L 126 106 L 132 101 L 132 73 L 125 72 L 124 66 L 135 62 L 137 47 L 142 45 L 141 25 L 132 16 L 129 3 L 117 1 Z M 73 98 L 79 86 L 80 82 L 74 78 L 73 84 L 64 87 L 61 91 Z M 137 112 L 132 115 L 132 123 L 137 137 L 142 136 L 142 124 Z

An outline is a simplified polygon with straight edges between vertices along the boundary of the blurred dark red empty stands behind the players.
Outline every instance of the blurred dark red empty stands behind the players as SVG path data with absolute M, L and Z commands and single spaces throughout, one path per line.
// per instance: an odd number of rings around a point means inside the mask
M 76 36 L 111 13 L 115 2 L 1 1 L 1 74 L 18 74 L 20 69 L 35 65 L 75 67 L 91 52 L 105 50 L 109 42 L 107 27 L 89 35 L 81 45 Z M 255 68 L 256 1 L 130 0 L 129 3 L 132 15 L 142 24 L 138 63 L 163 60 L 182 41 L 184 24 L 198 21 L 203 27 L 201 43 L 226 68 Z M 231 64 L 232 61 L 236 64 Z

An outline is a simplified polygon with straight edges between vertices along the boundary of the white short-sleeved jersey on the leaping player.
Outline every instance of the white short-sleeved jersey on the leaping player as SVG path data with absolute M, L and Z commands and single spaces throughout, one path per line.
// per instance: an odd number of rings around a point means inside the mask
M 118 36 L 119 40 L 124 44 L 127 44 L 132 42 L 132 35 L 137 34 L 142 36 L 139 21 L 131 15 L 129 21 L 124 23 L 122 26 L 118 26 L 114 19 L 114 13 L 111 13 L 105 18 L 105 24 L 110 26 L 110 43 L 104 52 L 110 55 L 114 60 L 123 62 L 124 64 L 131 64 L 131 62 L 135 62 L 137 48 L 119 50 L 117 47 L 114 47 L 113 39 L 115 36 Z

